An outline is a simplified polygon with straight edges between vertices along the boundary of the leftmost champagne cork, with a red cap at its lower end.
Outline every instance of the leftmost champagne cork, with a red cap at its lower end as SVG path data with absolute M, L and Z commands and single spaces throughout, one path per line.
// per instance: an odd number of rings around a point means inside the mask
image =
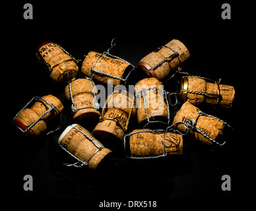
M 63 110 L 63 104 L 61 101 L 56 98 L 55 96 L 52 96 L 51 94 L 47 96 L 42 97 L 44 100 L 48 102 L 49 105 L 54 105 L 59 109 L 59 111 Z M 44 100 L 36 100 L 36 102 L 30 107 L 30 109 L 25 108 L 18 115 L 15 117 L 13 120 L 13 123 L 17 125 L 20 129 L 25 131 L 32 125 L 34 122 L 36 122 L 48 109 L 51 107 L 49 106 Z M 27 135 L 30 136 L 39 136 L 41 135 L 44 131 L 47 130 L 47 125 L 46 123 L 51 120 L 53 117 L 55 117 L 59 111 L 57 109 L 51 109 L 46 115 L 36 123 L 30 130 L 26 131 Z

